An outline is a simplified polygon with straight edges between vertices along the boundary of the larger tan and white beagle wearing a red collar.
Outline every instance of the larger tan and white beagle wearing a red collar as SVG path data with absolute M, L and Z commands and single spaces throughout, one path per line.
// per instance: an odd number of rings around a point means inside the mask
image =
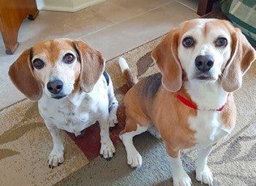
M 180 150 L 195 148 L 200 149 L 196 179 L 213 185 L 207 158 L 234 128 L 233 92 L 241 87 L 244 73 L 255 61 L 255 50 L 227 20 L 195 19 L 173 28 L 151 56 L 160 73 L 137 84 L 127 62 L 119 59 L 122 72 L 133 80 L 129 84 L 135 84 L 124 97 L 127 119 L 119 135 L 127 162 L 141 166 L 132 138 L 148 130 L 165 143 L 173 185 L 192 185 L 182 167 Z

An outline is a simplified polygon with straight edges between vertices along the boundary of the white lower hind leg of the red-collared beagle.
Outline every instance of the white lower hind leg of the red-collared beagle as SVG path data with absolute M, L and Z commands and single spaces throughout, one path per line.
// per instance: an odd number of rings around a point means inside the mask
M 127 120 L 127 125 L 129 125 L 129 120 Z M 140 133 L 145 132 L 148 127 L 141 127 L 137 125 L 136 131 L 131 131 L 121 134 L 119 137 L 122 140 L 125 149 L 127 150 L 127 163 L 131 167 L 140 167 L 142 165 L 142 158 L 138 150 L 136 150 L 132 138 Z

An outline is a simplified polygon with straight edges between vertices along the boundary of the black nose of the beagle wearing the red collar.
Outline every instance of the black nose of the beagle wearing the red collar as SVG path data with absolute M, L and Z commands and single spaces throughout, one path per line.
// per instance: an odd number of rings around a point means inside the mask
M 214 58 L 211 55 L 198 55 L 195 58 L 195 66 L 200 71 L 209 71 L 214 66 Z

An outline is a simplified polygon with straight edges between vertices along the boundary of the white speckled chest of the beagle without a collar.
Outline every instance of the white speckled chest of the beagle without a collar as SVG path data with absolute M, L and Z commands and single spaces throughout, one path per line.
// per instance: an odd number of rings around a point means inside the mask
M 97 122 L 98 102 L 83 98 L 75 105 L 67 98 L 54 100 L 42 97 L 39 100 L 39 112 L 46 125 L 55 125 L 57 128 L 77 134 Z

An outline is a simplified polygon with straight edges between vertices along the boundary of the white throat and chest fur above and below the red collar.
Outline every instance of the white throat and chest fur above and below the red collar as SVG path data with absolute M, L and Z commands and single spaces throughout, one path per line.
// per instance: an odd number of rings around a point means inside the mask
M 228 93 L 222 89 L 219 82 L 198 83 L 192 80 L 185 87 L 192 100 L 197 104 L 197 117 L 189 118 L 190 128 L 197 131 L 195 148 L 206 148 L 227 136 L 232 128 L 225 128 L 219 109 L 227 102 Z M 206 96 L 207 95 L 207 96 Z

